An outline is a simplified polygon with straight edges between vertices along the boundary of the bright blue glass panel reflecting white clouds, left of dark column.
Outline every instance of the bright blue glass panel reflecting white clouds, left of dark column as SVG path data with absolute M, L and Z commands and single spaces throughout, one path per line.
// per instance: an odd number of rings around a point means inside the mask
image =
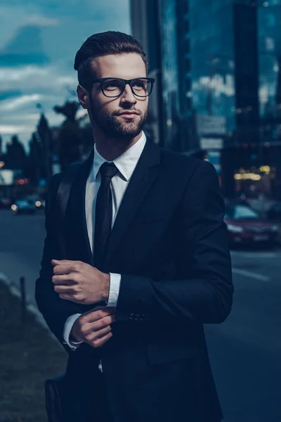
M 190 0 L 192 104 L 235 129 L 233 2 Z

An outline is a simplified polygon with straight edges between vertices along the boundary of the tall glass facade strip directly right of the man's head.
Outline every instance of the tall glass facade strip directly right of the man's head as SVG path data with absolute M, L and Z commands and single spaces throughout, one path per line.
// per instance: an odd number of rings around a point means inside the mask
M 131 0 L 130 6 L 132 34 L 148 54 L 149 73 L 156 79 L 152 121 L 145 130 L 159 145 L 184 151 L 191 127 L 188 0 Z

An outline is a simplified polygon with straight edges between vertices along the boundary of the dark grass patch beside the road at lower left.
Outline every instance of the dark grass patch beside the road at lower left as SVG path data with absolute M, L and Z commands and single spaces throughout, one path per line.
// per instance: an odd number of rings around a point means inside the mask
M 44 381 L 65 371 L 67 354 L 0 281 L 0 422 L 46 422 Z

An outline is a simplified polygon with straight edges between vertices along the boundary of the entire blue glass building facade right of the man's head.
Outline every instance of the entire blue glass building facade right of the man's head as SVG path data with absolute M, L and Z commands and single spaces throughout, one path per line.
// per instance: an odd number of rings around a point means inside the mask
M 208 149 L 207 139 L 219 139 L 226 148 L 256 148 L 266 139 L 277 139 L 281 0 L 152 3 L 158 38 L 148 48 L 150 58 L 159 58 L 162 81 L 159 143 L 192 153 Z M 146 13 L 151 20 L 150 6 Z

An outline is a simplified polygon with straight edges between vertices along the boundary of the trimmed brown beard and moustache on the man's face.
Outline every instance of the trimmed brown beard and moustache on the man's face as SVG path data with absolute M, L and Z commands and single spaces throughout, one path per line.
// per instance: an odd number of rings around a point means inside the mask
M 135 138 L 143 130 L 145 120 L 148 117 L 148 109 L 146 109 L 145 113 L 141 113 L 138 117 L 136 117 L 136 119 L 128 121 L 122 120 L 118 116 L 118 113 L 123 111 L 133 111 L 132 108 L 122 109 L 112 113 L 107 110 L 102 110 L 98 105 L 94 106 L 92 98 L 90 100 L 90 106 L 93 120 L 103 131 L 105 136 L 108 136 L 109 138 L 123 140 L 131 140 L 132 138 Z

